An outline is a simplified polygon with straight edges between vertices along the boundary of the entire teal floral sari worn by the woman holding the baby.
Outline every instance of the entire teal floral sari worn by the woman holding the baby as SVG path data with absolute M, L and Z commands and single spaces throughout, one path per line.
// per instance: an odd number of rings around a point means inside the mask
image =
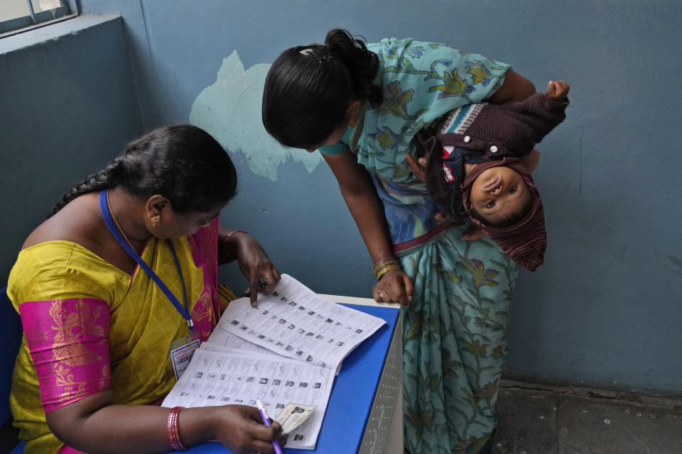
M 350 150 L 372 174 L 394 251 L 414 284 L 404 309 L 405 449 L 475 454 L 495 427 L 518 268 L 487 238 L 462 240 L 467 226 L 438 226 L 426 185 L 404 155 L 416 155 L 413 138 L 427 123 L 494 94 L 510 67 L 412 39 L 368 48 L 379 56 L 374 82 L 384 101 L 362 109 Z

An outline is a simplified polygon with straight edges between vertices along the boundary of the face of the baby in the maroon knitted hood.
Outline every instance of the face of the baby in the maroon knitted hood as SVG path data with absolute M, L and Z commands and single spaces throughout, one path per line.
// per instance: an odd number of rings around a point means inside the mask
M 471 186 L 471 206 L 488 223 L 521 213 L 531 192 L 518 172 L 509 167 L 490 167 Z

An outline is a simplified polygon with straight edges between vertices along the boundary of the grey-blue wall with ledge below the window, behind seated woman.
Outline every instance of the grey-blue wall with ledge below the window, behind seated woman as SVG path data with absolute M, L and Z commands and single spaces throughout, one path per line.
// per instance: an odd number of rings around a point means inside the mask
M 82 17 L 0 40 L 0 287 L 59 197 L 142 131 L 122 23 Z

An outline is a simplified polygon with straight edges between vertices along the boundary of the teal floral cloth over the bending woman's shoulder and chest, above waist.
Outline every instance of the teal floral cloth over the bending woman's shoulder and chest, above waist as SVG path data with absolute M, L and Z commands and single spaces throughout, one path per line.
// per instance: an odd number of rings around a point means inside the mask
M 414 155 L 414 135 L 457 107 L 494 94 L 509 70 L 482 55 L 411 38 L 367 45 L 379 57 L 374 83 L 384 90 L 377 109 L 365 106 L 350 150 L 358 162 L 393 182 L 413 182 L 404 158 Z

